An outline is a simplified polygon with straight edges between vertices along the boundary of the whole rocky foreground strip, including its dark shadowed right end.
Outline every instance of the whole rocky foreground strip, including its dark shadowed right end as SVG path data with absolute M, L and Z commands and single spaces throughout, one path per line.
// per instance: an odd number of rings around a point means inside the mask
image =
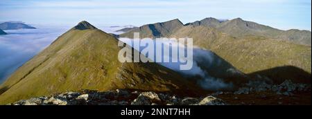
M 222 99 L 222 100 L 221 100 Z M 237 91 L 216 91 L 200 97 L 181 97 L 153 91 L 69 91 L 19 100 L 9 105 L 228 105 L 311 104 L 311 85 L 285 80 L 281 84 L 249 82 Z

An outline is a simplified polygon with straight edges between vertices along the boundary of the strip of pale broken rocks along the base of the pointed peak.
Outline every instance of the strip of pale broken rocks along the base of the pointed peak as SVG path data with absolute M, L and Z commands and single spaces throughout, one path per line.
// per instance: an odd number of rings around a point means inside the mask
M 152 91 L 82 91 L 66 92 L 28 100 L 20 100 L 10 105 L 225 105 L 223 100 L 211 95 L 203 98 L 178 97 Z

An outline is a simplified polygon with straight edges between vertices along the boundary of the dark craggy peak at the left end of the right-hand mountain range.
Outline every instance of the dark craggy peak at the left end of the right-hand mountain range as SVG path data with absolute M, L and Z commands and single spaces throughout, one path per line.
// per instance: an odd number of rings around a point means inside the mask
M 162 23 L 147 24 L 139 28 L 134 28 L 127 33 L 123 33 L 120 37 L 133 38 L 133 33 L 140 33 L 141 38 L 168 37 L 176 30 L 182 28 L 183 24 L 179 19 L 173 19 Z

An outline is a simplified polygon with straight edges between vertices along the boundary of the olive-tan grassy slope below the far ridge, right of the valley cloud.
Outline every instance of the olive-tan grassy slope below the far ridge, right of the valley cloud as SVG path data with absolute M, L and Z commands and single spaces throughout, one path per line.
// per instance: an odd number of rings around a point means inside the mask
M 206 26 L 184 26 L 171 37 L 192 37 L 194 45 L 213 51 L 244 73 L 296 66 L 311 77 L 311 46 L 254 35 L 237 38 Z

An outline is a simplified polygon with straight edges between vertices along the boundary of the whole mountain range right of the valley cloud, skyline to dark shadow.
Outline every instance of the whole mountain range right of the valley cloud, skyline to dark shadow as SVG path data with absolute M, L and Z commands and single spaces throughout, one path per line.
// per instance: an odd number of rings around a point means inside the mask
M 195 46 L 213 51 L 243 73 L 295 66 L 311 75 L 311 31 L 308 30 L 278 30 L 241 18 L 220 21 L 209 17 L 177 27 L 165 35 L 159 32 L 146 35 L 148 31 L 129 31 L 120 37 L 132 38 L 134 32 L 145 37 L 191 37 Z

